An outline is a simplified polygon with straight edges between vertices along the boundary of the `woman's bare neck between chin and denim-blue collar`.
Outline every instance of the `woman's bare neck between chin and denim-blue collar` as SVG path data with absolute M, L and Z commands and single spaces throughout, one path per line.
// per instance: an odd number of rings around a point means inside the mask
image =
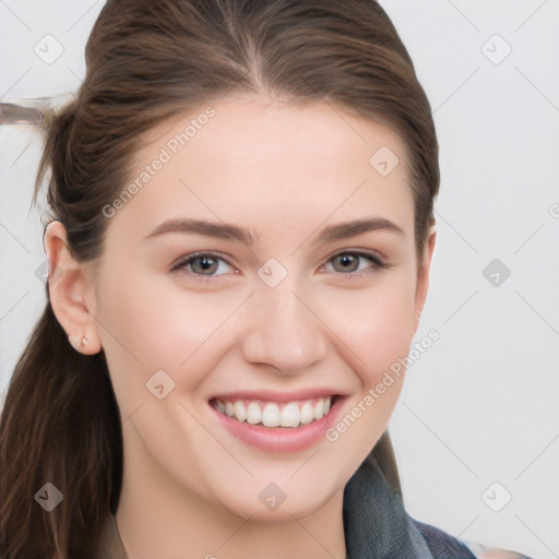
M 126 454 L 116 519 L 128 559 L 343 559 L 342 510 L 343 488 L 305 518 L 241 518 L 175 483 L 144 448 Z

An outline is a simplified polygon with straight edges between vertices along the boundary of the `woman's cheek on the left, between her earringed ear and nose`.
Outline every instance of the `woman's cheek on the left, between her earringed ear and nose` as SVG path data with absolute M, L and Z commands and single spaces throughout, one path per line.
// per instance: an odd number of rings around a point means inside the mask
M 142 280 L 141 273 L 131 270 L 117 281 L 99 281 L 96 312 L 115 390 L 121 384 L 135 402 L 158 370 L 177 383 L 186 371 L 189 384 L 202 380 L 204 370 L 192 364 L 202 354 L 207 359 L 205 349 L 215 346 L 219 331 L 245 297 L 189 292 L 170 280 Z

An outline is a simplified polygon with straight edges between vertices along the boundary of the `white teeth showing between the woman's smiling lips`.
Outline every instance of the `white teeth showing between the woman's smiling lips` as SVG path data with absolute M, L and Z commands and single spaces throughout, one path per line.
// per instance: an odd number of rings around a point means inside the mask
M 293 402 L 214 399 L 210 405 L 221 414 L 243 424 L 296 429 L 326 416 L 335 399 L 336 396 L 325 396 Z

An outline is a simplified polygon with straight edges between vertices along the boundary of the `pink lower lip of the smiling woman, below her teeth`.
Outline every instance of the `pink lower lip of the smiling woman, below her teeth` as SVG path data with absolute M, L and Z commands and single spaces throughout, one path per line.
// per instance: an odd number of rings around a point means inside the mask
M 325 431 L 335 423 L 343 400 L 343 397 L 337 396 L 324 417 L 302 427 L 251 425 L 222 414 L 212 405 L 210 407 L 227 431 L 237 439 L 267 452 L 298 452 L 309 449 L 324 439 Z

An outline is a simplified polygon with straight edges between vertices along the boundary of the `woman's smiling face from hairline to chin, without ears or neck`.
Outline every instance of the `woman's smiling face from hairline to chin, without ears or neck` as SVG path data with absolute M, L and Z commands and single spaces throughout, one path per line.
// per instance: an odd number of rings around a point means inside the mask
M 144 138 L 105 212 L 90 308 L 126 464 L 169 496 L 301 516 L 386 428 L 404 374 L 376 388 L 409 350 L 430 253 L 418 273 L 391 130 L 325 104 L 204 109 Z

